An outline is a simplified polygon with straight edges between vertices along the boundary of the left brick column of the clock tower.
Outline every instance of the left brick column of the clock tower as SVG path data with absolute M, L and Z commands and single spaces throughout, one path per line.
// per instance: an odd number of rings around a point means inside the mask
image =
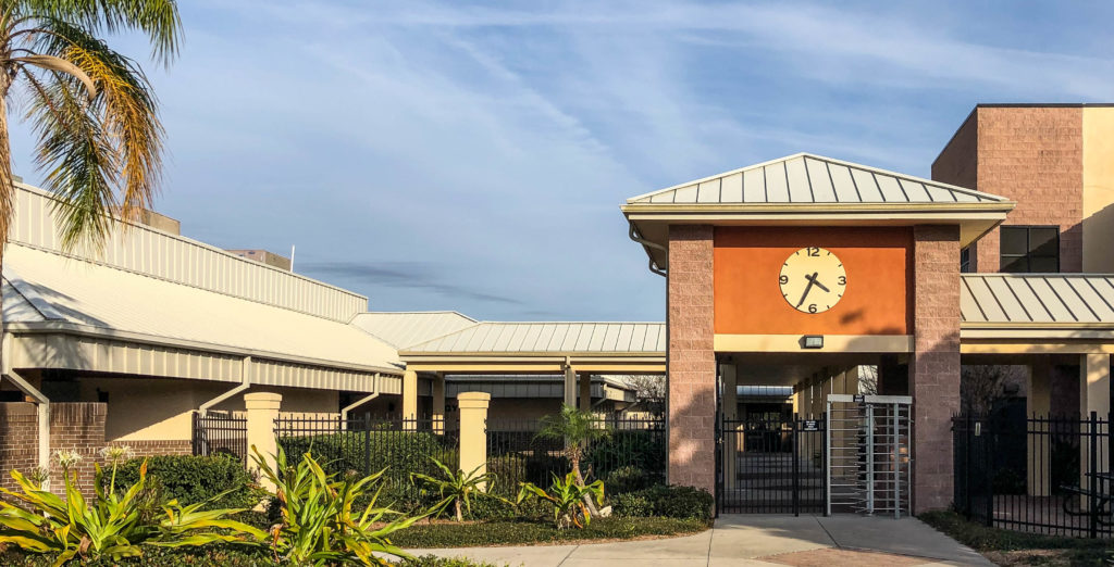
M 668 481 L 715 493 L 713 229 L 670 227 Z

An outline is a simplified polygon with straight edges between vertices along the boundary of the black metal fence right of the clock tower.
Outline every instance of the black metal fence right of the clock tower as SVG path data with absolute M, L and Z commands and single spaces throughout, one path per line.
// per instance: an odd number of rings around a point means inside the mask
M 987 526 L 1114 537 L 1111 416 L 952 419 L 955 506 Z

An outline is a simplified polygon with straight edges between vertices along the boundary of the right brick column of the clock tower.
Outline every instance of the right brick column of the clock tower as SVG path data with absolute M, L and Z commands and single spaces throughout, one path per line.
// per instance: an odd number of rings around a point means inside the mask
M 913 513 L 954 497 L 951 416 L 959 411 L 959 227 L 913 228 Z

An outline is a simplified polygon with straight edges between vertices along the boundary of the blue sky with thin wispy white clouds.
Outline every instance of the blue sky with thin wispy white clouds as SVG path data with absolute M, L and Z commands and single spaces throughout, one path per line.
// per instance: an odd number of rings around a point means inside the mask
M 1114 100 L 1108 2 L 604 4 L 183 2 L 158 208 L 373 309 L 662 320 L 627 197 L 798 151 L 927 177 L 977 102 Z

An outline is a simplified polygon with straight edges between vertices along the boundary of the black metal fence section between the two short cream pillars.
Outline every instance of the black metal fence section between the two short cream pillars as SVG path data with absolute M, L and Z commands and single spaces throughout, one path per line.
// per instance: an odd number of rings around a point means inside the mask
M 439 476 L 433 459 L 451 470 L 459 464 L 460 421 L 451 418 L 280 417 L 275 435 L 287 458 L 310 452 L 329 472 L 383 470 L 383 504 L 400 508 L 422 504 L 411 474 Z

